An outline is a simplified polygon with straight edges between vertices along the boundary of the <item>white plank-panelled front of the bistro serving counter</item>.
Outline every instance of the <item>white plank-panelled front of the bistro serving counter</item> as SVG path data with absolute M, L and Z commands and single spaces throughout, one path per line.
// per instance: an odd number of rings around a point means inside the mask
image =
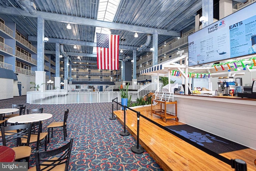
M 180 122 L 256 149 L 256 99 L 177 94 L 174 99 Z

